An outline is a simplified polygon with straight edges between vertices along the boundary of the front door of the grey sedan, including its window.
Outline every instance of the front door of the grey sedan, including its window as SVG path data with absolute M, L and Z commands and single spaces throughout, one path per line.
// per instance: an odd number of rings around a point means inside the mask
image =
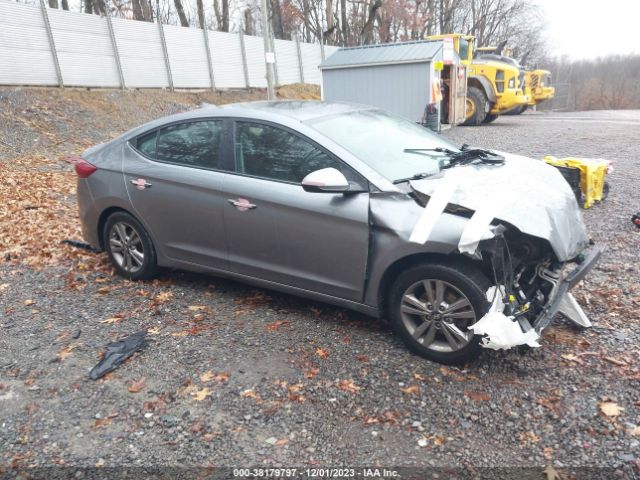
M 369 241 L 368 193 L 309 193 L 310 172 L 334 167 L 366 181 L 284 127 L 235 122 L 236 173 L 223 186 L 230 270 L 361 301 Z

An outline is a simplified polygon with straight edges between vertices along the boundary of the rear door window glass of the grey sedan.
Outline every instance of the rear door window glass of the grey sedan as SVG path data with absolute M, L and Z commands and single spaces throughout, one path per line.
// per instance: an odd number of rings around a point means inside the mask
M 137 149 L 161 162 L 189 167 L 219 169 L 221 121 L 171 125 L 138 138 Z

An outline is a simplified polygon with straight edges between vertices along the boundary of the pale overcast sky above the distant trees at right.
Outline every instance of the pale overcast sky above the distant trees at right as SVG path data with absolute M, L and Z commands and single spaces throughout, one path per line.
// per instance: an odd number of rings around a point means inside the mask
M 549 20 L 552 55 L 640 53 L 640 0 L 532 0 Z

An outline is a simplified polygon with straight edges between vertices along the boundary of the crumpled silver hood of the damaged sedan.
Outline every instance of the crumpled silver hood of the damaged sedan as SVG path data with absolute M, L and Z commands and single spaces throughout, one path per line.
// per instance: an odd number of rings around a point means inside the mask
M 456 185 L 449 203 L 484 212 L 523 233 L 549 241 L 560 261 L 578 255 L 589 243 L 580 208 L 560 172 L 541 160 L 503 152 L 504 165 L 466 165 L 438 177 L 411 181 L 432 196 Z

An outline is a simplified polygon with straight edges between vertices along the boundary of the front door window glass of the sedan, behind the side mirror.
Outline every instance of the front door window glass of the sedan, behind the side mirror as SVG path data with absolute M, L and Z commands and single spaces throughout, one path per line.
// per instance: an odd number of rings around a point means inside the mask
M 236 125 L 238 173 L 300 183 L 309 173 L 321 168 L 340 170 L 337 160 L 282 128 L 250 122 Z

